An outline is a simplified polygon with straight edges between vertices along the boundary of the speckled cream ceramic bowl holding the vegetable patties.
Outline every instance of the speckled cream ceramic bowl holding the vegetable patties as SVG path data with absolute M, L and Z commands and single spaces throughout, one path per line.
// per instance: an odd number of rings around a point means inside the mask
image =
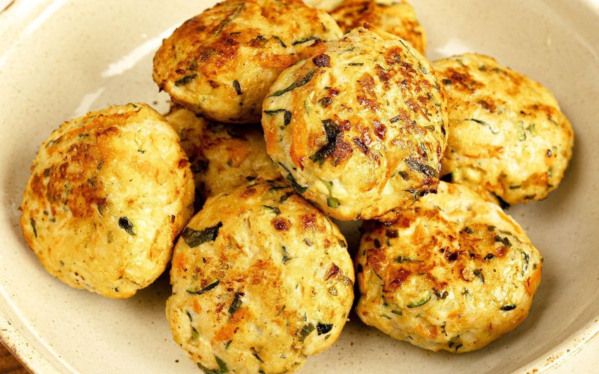
M 162 38 L 213 1 L 0 4 L 10 5 L 0 14 L 2 342 L 34 372 L 198 373 L 171 339 L 164 317 L 166 276 L 127 300 L 70 288 L 26 247 L 18 208 L 31 160 L 63 121 L 131 101 L 167 109 L 168 97 L 152 81 L 152 56 Z M 574 157 L 558 190 L 543 202 L 509 209 L 544 255 L 543 281 L 530 317 L 480 351 L 424 351 L 352 315 L 334 347 L 309 358 L 303 372 L 507 373 L 555 367 L 599 331 L 599 2 L 413 4 L 428 32 L 429 58 L 465 51 L 495 56 L 553 90 L 574 124 Z M 356 226 L 346 226 L 355 244 Z M 583 349 L 566 365 L 594 372 L 599 358 L 591 353 Z

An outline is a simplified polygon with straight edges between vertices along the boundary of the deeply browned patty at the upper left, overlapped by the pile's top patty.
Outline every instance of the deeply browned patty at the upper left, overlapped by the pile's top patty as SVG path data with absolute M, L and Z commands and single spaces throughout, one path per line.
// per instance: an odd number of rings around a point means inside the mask
M 280 72 L 313 45 L 341 36 L 301 0 L 226 0 L 187 20 L 154 57 L 153 77 L 174 102 L 212 120 L 258 123 Z

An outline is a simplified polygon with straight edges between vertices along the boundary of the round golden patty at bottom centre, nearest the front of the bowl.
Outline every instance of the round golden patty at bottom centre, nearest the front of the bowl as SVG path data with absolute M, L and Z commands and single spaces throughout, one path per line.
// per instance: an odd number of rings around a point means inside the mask
M 210 197 L 174 250 L 174 340 L 205 372 L 295 372 L 346 322 L 346 248 L 337 226 L 283 183 Z

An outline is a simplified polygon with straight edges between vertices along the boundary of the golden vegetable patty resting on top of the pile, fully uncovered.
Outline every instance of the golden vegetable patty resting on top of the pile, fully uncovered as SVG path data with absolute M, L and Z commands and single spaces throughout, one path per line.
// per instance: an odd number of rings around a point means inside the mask
M 283 71 L 263 109 L 268 154 L 331 217 L 382 217 L 437 187 L 444 92 L 394 35 L 356 28 L 323 45 Z

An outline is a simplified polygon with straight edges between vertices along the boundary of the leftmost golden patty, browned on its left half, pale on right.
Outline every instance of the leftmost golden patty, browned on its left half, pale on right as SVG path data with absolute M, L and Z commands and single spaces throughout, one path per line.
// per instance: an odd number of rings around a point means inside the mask
M 20 224 L 52 275 L 125 298 L 164 272 L 192 205 L 179 137 L 135 103 L 70 120 L 43 142 Z

